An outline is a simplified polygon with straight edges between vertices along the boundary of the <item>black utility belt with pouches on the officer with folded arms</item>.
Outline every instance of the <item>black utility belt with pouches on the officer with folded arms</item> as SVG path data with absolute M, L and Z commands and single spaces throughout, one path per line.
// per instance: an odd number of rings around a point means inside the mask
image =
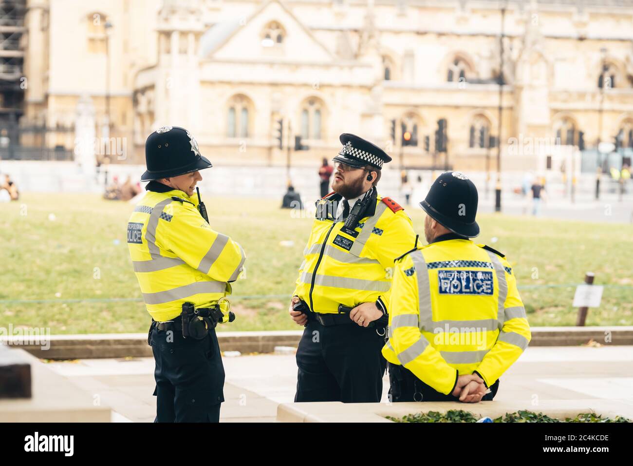
M 182 312 L 179 316 L 173 320 L 166 322 L 156 322 L 152 320 L 151 327 L 149 327 L 149 338 L 147 344 L 151 344 L 151 332 L 154 328 L 166 332 L 171 330 L 172 332 L 182 332 L 183 338 L 191 337 L 194 340 L 202 340 L 211 328 L 215 328 L 218 323 L 222 323 L 224 314 L 220 309 L 220 302 L 227 300 L 227 298 L 220 298 L 220 300 L 213 307 L 195 307 L 192 302 L 182 303 Z M 230 308 L 230 307 L 229 307 Z M 235 320 L 235 314 L 229 311 L 229 322 Z

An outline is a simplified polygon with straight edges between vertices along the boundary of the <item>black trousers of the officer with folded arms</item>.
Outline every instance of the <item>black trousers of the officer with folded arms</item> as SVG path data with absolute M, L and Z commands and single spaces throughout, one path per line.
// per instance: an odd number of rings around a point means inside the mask
M 154 328 L 154 422 L 219 422 L 224 366 L 215 329 L 202 340 Z

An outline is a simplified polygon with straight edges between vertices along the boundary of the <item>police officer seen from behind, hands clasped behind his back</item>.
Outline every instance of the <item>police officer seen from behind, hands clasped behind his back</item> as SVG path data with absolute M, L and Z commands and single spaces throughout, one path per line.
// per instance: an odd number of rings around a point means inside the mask
M 446 172 L 420 202 L 429 244 L 396 260 L 382 350 L 392 401 L 491 400 L 530 341 L 510 263 L 469 239 L 477 199 L 465 174 Z

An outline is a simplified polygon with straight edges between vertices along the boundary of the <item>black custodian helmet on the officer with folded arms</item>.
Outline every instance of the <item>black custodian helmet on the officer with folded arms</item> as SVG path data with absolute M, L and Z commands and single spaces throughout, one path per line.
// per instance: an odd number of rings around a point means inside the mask
M 200 155 L 196 139 L 179 126 L 161 126 L 145 141 L 147 171 L 141 181 L 169 178 L 212 167 Z

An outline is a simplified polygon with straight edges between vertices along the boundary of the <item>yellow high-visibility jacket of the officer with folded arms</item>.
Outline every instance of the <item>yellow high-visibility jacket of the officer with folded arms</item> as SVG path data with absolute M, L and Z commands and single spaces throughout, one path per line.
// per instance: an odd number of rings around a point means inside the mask
M 127 243 L 147 311 L 171 320 L 182 303 L 215 304 L 231 293 L 244 266 L 244 250 L 213 231 L 197 210 L 197 198 L 180 190 L 147 191 L 127 224 Z M 222 305 L 229 319 L 228 308 Z

